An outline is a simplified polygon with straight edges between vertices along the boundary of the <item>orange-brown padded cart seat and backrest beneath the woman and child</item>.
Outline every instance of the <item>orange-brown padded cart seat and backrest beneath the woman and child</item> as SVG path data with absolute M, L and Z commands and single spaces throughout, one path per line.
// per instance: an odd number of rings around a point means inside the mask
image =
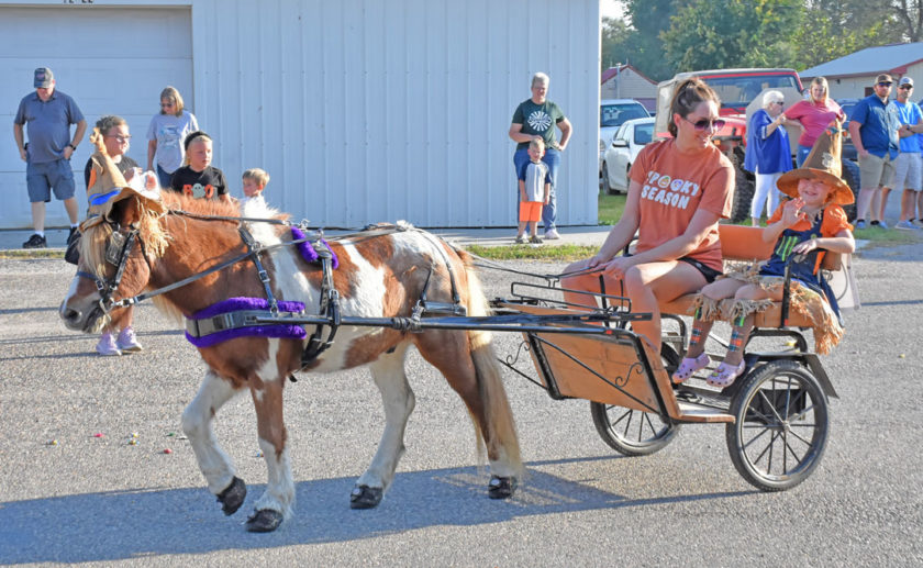
M 719 225 L 719 238 L 721 241 L 721 255 L 724 260 L 766 260 L 772 255 L 775 243 L 763 241 L 763 230 L 755 226 Z M 843 267 L 842 255 L 826 253 L 821 264 L 824 270 L 839 270 Z M 660 302 L 660 313 L 677 315 L 691 315 L 692 303 L 696 293 L 680 296 L 676 300 Z M 754 314 L 756 327 L 780 327 L 782 318 L 782 304 L 776 302 L 766 311 Z M 789 311 L 788 326 L 811 327 L 813 323 L 805 316 Z

